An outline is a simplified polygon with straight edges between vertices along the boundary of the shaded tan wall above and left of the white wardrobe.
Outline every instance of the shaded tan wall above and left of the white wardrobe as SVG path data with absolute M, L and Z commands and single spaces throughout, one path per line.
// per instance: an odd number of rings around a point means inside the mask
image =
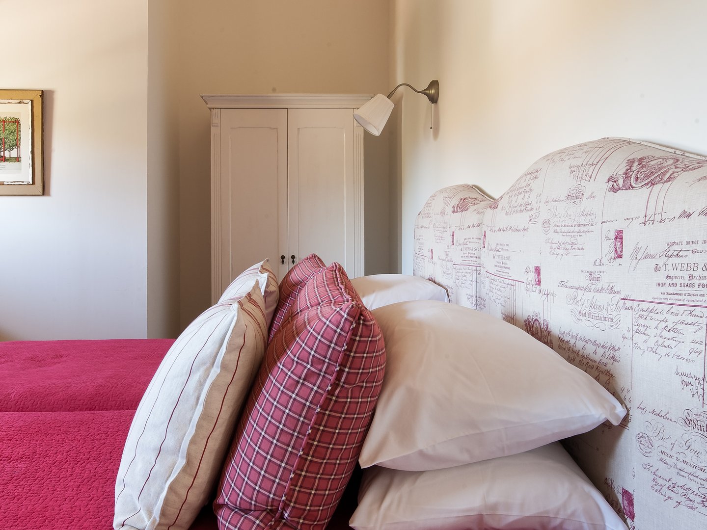
M 178 0 L 173 5 L 180 35 L 174 89 L 180 107 L 180 322 L 185 326 L 210 300 L 209 110 L 199 94 L 383 92 L 389 86 L 390 1 Z M 369 172 L 367 185 L 372 178 Z M 263 200 L 264 208 L 272 207 Z

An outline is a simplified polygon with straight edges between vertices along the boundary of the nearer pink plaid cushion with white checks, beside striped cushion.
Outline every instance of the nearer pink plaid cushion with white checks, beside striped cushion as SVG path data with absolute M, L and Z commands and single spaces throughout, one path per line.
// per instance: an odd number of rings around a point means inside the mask
M 378 399 L 378 324 L 339 264 L 315 275 L 268 346 L 214 510 L 221 530 L 323 529 Z

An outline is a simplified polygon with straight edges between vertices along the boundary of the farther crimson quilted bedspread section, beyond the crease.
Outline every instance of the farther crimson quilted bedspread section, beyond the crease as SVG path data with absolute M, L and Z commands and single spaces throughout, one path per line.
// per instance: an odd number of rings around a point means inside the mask
M 134 411 L 173 342 L 0 343 L 0 412 Z

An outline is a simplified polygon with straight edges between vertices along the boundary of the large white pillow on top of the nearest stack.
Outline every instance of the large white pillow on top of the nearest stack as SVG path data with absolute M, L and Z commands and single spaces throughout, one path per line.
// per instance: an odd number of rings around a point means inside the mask
M 592 377 L 512 324 L 419 300 L 379 307 L 385 377 L 362 467 L 440 469 L 595 428 L 626 409 Z

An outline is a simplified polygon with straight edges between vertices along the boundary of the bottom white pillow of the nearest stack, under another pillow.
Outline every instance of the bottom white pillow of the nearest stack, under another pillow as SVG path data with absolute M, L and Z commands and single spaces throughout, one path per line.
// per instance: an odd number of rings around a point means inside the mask
M 433 471 L 363 472 L 356 530 L 626 530 L 559 442 Z

